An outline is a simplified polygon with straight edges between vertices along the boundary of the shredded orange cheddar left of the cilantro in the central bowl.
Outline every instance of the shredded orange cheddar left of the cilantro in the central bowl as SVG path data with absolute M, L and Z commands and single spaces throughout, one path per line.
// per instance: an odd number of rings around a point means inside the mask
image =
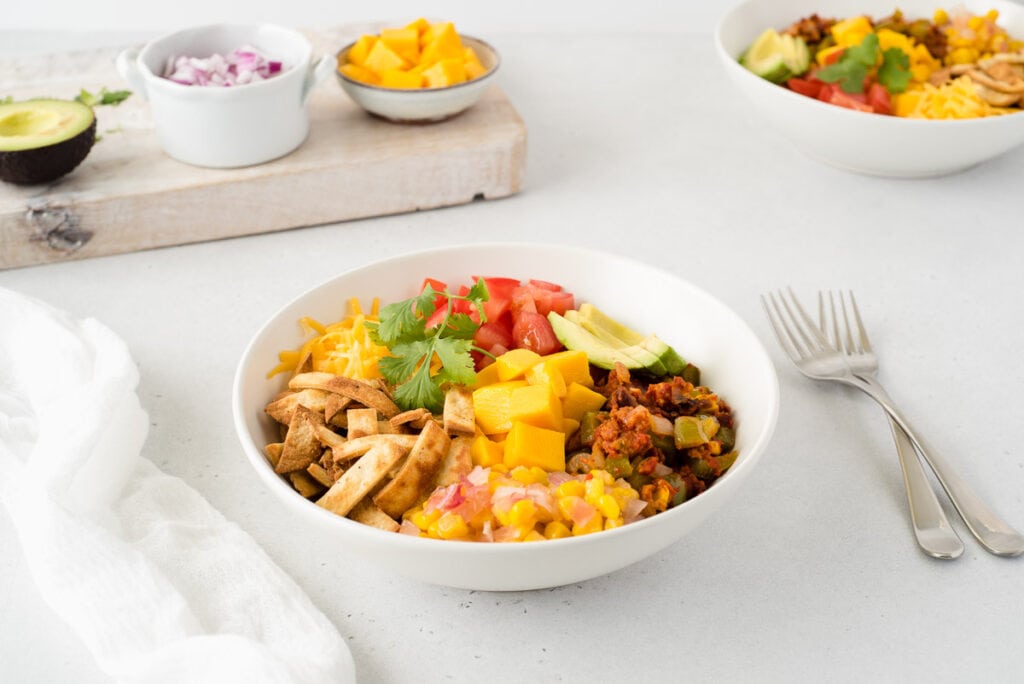
M 278 354 L 280 362 L 267 377 L 295 371 L 308 358 L 313 371 L 361 380 L 380 378 L 377 362 L 388 355 L 388 349 L 376 344 L 366 327 L 368 320 L 378 320 L 379 311 L 380 300 L 375 298 L 370 313 L 364 313 L 359 300 L 352 298 L 347 315 L 337 323 L 325 326 L 310 317 L 301 318 L 299 325 L 313 337 L 298 349 Z

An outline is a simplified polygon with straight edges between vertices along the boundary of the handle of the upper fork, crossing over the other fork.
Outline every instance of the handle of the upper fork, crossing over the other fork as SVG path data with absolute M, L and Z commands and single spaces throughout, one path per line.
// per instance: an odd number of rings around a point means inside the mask
M 878 380 L 853 376 L 847 384 L 856 387 L 879 402 L 892 418 L 931 467 L 939 484 L 964 518 L 971 533 L 991 553 L 997 556 L 1019 556 L 1024 553 L 1024 536 L 1011 527 L 975 494 L 964 478 L 957 475 L 946 461 L 921 437 Z

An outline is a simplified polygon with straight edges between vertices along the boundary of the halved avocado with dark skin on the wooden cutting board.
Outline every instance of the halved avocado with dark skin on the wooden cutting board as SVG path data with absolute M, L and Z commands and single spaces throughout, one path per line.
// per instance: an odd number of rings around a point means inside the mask
M 45 183 L 70 173 L 96 141 L 96 115 L 75 100 L 0 104 L 0 180 Z

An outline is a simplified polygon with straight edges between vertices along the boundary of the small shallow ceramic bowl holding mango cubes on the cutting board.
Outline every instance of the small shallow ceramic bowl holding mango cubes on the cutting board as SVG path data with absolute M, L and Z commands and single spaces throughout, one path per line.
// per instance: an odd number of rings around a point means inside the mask
M 480 63 L 487 70 L 482 76 L 444 88 L 404 90 L 368 85 L 338 72 L 338 81 L 348 96 L 367 112 L 397 123 L 429 123 L 450 119 L 476 104 L 495 82 L 501 58 L 498 51 L 478 38 L 462 36 L 462 42 L 472 47 Z M 338 52 L 339 62 L 354 43 Z

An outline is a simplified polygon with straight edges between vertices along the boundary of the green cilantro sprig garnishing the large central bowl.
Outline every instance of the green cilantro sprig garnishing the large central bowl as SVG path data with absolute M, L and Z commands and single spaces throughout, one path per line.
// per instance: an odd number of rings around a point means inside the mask
M 482 279 L 465 295 L 453 294 L 446 288 L 438 292 L 427 285 L 416 297 L 384 306 L 378 323 L 367 323 L 373 340 L 391 352 L 378 362 L 378 369 L 395 386 L 395 403 L 403 410 L 423 407 L 439 413 L 444 405 L 445 386 L 476 381 L 470 352 L 482 351 L 473 344 L 473 335 L 486 322 L 483 302 L 488 298 Z M 440 323 L 427 328 L 427 319 L 441 301 L 445 310 Z M 468 313 L 456 311 L 457 301 L 468 302 L 470 310 L 475 308 L 480 323 Z M 440 367 L 432 374 L 435 357 Z

